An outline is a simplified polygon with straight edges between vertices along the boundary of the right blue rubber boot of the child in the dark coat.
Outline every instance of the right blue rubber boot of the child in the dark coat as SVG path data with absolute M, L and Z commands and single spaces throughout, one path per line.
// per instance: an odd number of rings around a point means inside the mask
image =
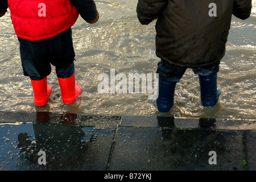
M 201 104 L 204 107 L 213 107 L 218 103 L 220 91 L 217 90 L 217 73 L 200 76 Z

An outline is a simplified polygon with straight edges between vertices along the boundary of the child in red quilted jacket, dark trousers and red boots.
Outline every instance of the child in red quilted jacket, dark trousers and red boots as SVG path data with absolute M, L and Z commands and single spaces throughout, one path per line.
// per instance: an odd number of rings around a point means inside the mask
M 7 8 L 20 43 L 24 76 L 29 76 L 36 106 L 45 106 L 52 93 L 47 84 L 51 64 L 61 89 L 64 104 L 71 104 L 81 94 L 75 82 L 75 51 L 71 27 L 79 14 L 88 23 L 96 23 L 99 15 L 93 0 L 0 0 L 0 17 Z M 22 10 L 22 11 L 20 11 Z

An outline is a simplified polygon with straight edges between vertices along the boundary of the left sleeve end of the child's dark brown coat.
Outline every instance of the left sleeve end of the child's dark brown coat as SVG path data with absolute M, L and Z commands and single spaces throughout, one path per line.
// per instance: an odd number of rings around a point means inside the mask
M 141 24 L 149 24 L 166 9 L 168 0 L 139 0 L 137 16 Z

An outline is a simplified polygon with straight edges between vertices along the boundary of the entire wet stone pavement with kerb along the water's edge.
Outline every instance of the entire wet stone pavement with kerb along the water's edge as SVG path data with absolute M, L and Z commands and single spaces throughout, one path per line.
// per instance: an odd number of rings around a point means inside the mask
M 255 121 L 48 112 L 0 119 L 2 171 L 256 169 Z

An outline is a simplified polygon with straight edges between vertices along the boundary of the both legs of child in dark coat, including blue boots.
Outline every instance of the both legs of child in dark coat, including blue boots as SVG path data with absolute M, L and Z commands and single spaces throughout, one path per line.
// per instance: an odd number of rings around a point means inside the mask
M 156 99 L 158 111 L 167 113 L 174 104 L 176 83 L 184 75 L 187 68 L 171 65 L 166 61 L 158 63 L 156 73 L 159 74 L 159 96 Z M 217 72 L 219 65 L 212 67 L 193 68 L 193 72 L 199 75 L 201 103 L 204 107 L 212 107 L 217 104 L 220 92 L 217 90 Z

